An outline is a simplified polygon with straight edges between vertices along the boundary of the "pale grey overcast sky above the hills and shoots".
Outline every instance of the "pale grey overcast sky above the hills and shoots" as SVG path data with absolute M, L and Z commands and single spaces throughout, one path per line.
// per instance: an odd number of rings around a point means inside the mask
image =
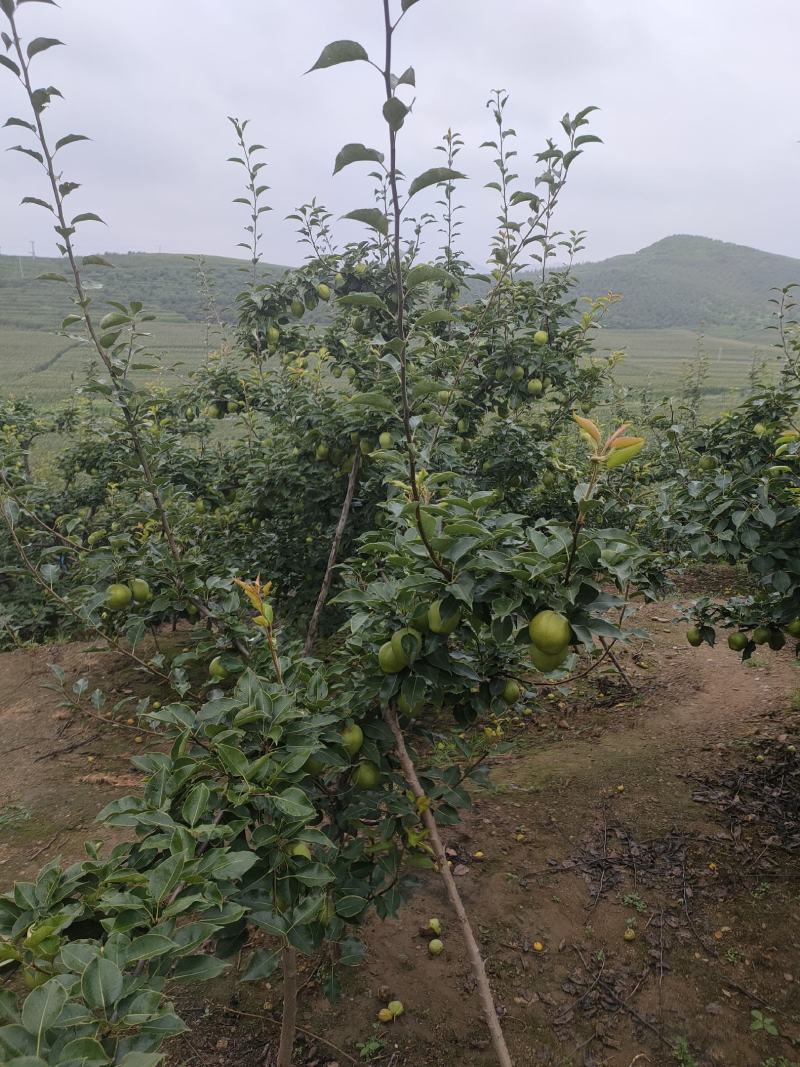
M 337 38 L 380 60 L 381 0 L 61 0 L 60 10 L 23 5 L 19 25 L 27 37 L 67 45 L 34 65 L 66 98 L 47 113 L 54 137 L 93 139 L 62 157 L 83 184 L 76 210 L 108 222 L 82 228 L 81 251 L 241 254 L 227 115 L 250 117 L 269 148 L 265 259 L 300 261 L 285 216 L 311 196 L 337 216 L 371 203 L 365 164 L 331 172 L 346 142 L 385 146 L 377 71 L 303 71 Z M 491 155 L 479 148 L 494 132 L 489 92 L 511 94 L 526 189 L 533 153 L 563 112 L 597 105 L 591 130 L 604 144 L 575 164 L 559 219 L 589 230 L 585 258 L 675 233 L 800 257 L 798 42 L 798 0 L 420 0 L 396 38 L 395 71 L 412 64 L 417 75 L 401 165 L 414 175 L 441 164 L 442 132 L 462 133 L 464 248 L 482 262 L 495 213 L 482 188 L 494 177 Z M 28 117 L 2 68 L 0 110 Z M 14 144 L 15 132 L 0 143 Z M 3 253 L 30 252 L 31 240 L 54 252 L 45 213 L 18 206 L 45 193 L 30 159 L 0 157 Z M 421 194 L 419 205 L 433 200 Z M 343 241 L 359 227 L 341 222 L 338 233 Z

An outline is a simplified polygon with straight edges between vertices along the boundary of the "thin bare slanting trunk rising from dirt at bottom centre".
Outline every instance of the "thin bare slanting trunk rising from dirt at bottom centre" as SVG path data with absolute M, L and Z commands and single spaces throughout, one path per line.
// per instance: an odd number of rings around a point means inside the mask
M 425 791 L 419 784 L 417 771 L 412 758 L 409 755 L 409 750 L 405 747 L 405 738 L 403 737 L 403 732 L 400 729 L 400 723 L 397 721 L 397 713 L 394 707 L 387 708 L 384 713 L 384 720 L 394 734 L 395 751 L 398 760 L 400 761 L 400 766 L 405 781 L 409 783 L 409 787 L 414 796 L 418 799 L 422 799 L 425 797 Z M 428 830 L 428 837 L 436 857 L 438 872 L 442 875 L 447 895 L 458 917 L 459 925 L 461 926 L 461 933 L 464 937 L 469 960 L 473 965 L 473 972 L 475 973 L 475 977 L 478 983 L 478 992 L 481 999 L 481 1006 L 483 1007 L 483 1016 L 492 1036 L 492 1045 L 494 1046 L 497 1062 L 500 1064 L 500 1067 L 513 1067 L 513 1063 L 506 1045 L 506 1038 L 502 1034 L 502 1028 L 500 1026 L 500 1020 L 497 1017 L 494 998 L 492 997 L 492 988 L 489 984 L 489 978 L 486 977 L 486 968 L 483 964 L 480 946 L 478 945 L 475 935 L 473 934 L 473 927 L 469 924 L 464 903 L 461 899 L 461 894 L 459 893 L 459 889 L 455 885 L 455 879 L 453 878 L 450 865 L 447 862 L 445 846 L 442 843 L 442 838 L 438 834 L 438 827 L 436 826 L 436 821 L 434 819 L 430 808 L 422 807 L 420 818 L 422 819 L 422 825 Z

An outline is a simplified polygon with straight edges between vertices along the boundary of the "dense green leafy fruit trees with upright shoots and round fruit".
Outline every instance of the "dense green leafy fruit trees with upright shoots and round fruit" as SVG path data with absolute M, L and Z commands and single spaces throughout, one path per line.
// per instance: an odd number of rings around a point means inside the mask
M 245 980 L 283 971 L 287 1067 L 297 954 L 327 950 L 336 997 L 340 969 L 365 953 L 365 917 L 395 914 L 416 872 L 436 867 L 509 1064 L 438 827 L 469 805 L 522 699 L 614 662 L 631 600 L 662 580 L 665 536 L 677 553 L 748 561 L 766 590 L 753 618 L 766 611 L 775 633 L 791 624 L 797 572 L 779 537 L 797 527 L 791 367 L 724 427 L 660 427 L 651 464 L 673 474 L 679 449 L 681 466 L 658 522 L 642 521 L 663 492 L 652 467 L 633 474 L 646 467 L 644 439 L 589 417 L 611 370 L 593 354 L 609 302 L 578 302 L 570 270 L 548 270 L 580 246 L 554 213 L 597 140 L 593 109 L 562 118 L 530 192 L 517 187 L 508 98 L 493 94 L 498 229 L 489 273 L 470 278 L 454 221 L 458 134 L 439 146 L 447 166 L 407 182 L 400 173 L 415 76 L 393 74 L 391 48 L 414 2 L 393 22 L 386 0 L 388 152 L 351 143 L 335 164 L 377 166 L 381 206 L 348 216 L 367 237 L 338 249 L 324 209 L 305 205 L 306 266 L 265 282 L 261 149 L 235 120 L 252 267 L 236 345 L 182 385 L 138 384 L 151 316 L 141 302 L 95 314 L 74 238 L 96 217 L 68 218 L 78 186 L 53 162 L 79 138 L 51 148 L 43 116 L 59 94 L 31 82 L 58 42 L 22 44 L 23 2 L 0 0 L 0 58 L 31 115 L 10 123 L 32 134 L 33 147 L 16 147 L 49 182 L 50 198 L 27 200 L 55 217 L 71 274 L 62 330 L 96 362 L 59 416 L 19 401 L 0 411 L 3 626 L 15 643 L 91 634 L 135 664 L 153 684 L 138 714 L 154 748 L 134 761 L 141 794 L 100 814 L 129 842 L 106 859 L 89 845 L 83 863 L 49 865 L 0 897 L 0 966 L 12 974 L 0 1049 L 20 1067 L 155 1067 L 182 1028 L 173 984 L 215 976 L 246 947 Z M 334 42 L 313 69 L 366 59 Z M 423 195 L 437 197 L 445 235 L 432 260 L 407 210 Z M 779 427 L 786 462 L 768 477 Z M 43 472 L 31 448 L 53 431 L 61 447 Z M 714 475 L 700 451 L 735 469 Z M 695 462 L 719 503 L 685 477 Z M 699 610 L 705 627 L 711 608 Z M 108 706 L 89 680 L 60 682 L 76 714 L 86 699 Z

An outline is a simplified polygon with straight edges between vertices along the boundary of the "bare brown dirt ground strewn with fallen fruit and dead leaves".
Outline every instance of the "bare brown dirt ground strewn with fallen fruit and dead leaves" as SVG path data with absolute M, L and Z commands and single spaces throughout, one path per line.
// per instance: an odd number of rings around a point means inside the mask
M 492 787 L 448 829 L 517 1067 L 800 1063 L 800 673 L 789 649 L 747 666 L 724 642 L 690 649 L 674 617 L 672 602 L 642 611 L 652 643 L 622 657 L 633 692 L 614 673 L 531 702 Z M 131 697 L 127 668 L 85 647 L 0 656 L 3 887 L 79 856 L 103 837 L 101 805 L 135 783 L 125 707 L 115 726 L 77 720 L 42 688 L 49 662 Z M 435 959 L 419 935 L 434 915 Z M 495 1062 L 435 874 L 364 937 L 336 1006 L 308 961 L 298 1067 Z M 171 1064 L 271 1063 L 279 982 L 191 996 Z M 378 1023 L 395 998 L 404 1015 Z

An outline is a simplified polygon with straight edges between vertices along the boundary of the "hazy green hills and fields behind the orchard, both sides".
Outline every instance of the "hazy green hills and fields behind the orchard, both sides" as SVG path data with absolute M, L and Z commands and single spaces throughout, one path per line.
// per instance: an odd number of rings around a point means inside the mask
M 113 268 L 90 267 L 84 274 L 96 307 L 141 300 L 155 312 L 151 347 L 162 355 L 166 375 L 181 364 L 196 366 L 219 346 L 221 330 L 213 319 L 235 320 L 236 296 L 249 281 L 242 260 L 221 256 L 203 257 L 202 267 L 198 257 L 182 255 L 110 253 L 107 258 Z M 267 265 L 261 273 L 266 278 L 283 269 Z M 62 260 L 0 256 L 0 392 L 47 404 L 81 383 L 91 356 L 55 333 L 73 307 L 68 286 L 36 280 L 50 271 L 64 272 Z M 579 292 L 623 296 L 598 338 L 602 349 L 627 350 L 620 368 L 623 382 L 674 388 L 702 332 L 711 360 L 709 386 L 721 394 L 745 381 L 756 350 L 768 355 L 773 337 L 764 327 L 770 321 L 770 289 L 800 282 L 800 259 L 678 236 L 631 255 L 581 264 L 576 276 Z

